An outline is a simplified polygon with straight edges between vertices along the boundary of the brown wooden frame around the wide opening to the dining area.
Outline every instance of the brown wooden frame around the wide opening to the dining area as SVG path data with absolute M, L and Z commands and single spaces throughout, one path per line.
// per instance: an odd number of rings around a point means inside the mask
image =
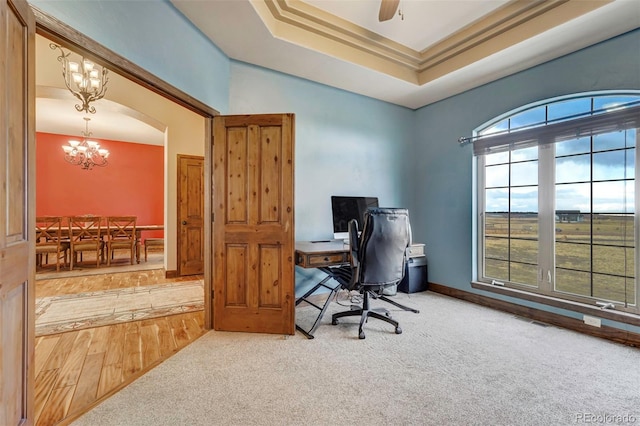
M 133 81 L 134 83 L 137 83 L 157 93 L 158 95 L 204 117 L 204 215 L 205 218 L 211 217 L 211 199 L 213 191 L 211 174 L 211 147 L 213 138 L 212 126 L 213 117 L 220 115 L 220 113 L 210 106 L 183 92 L 182 90 L 172 86 L 171 84 L 144 70 L 128 59 L 118 55 L 114 51 L 107 49 L 100 43 L 80 33 L 64 22 L 52 17 L 51 15 L 48 15 L 47 13 L 41 11 L 33 5 L 30 5 L 30 7 L 36 18 L 36 34 L 44 36 L 54 42 L 63 44 L 66 47 L 72 48 L 75 52 L 94 60 L 96 63 L 107 67 L 109 70 L 120 74 L 123 77 Z M 31 168 L 35 168 L 35 163 L 31 164 Z M 213 294 L 211 280 L 213 268 L 213 259 L 211 256 L 212 241 L 212 223 L 209 220 L 205 220 L 204 327 L 209 330 L 213 328 L 213 318 L 211 315 Z M 211 261 L 207 262 L 207 259 L 210 259 Z

